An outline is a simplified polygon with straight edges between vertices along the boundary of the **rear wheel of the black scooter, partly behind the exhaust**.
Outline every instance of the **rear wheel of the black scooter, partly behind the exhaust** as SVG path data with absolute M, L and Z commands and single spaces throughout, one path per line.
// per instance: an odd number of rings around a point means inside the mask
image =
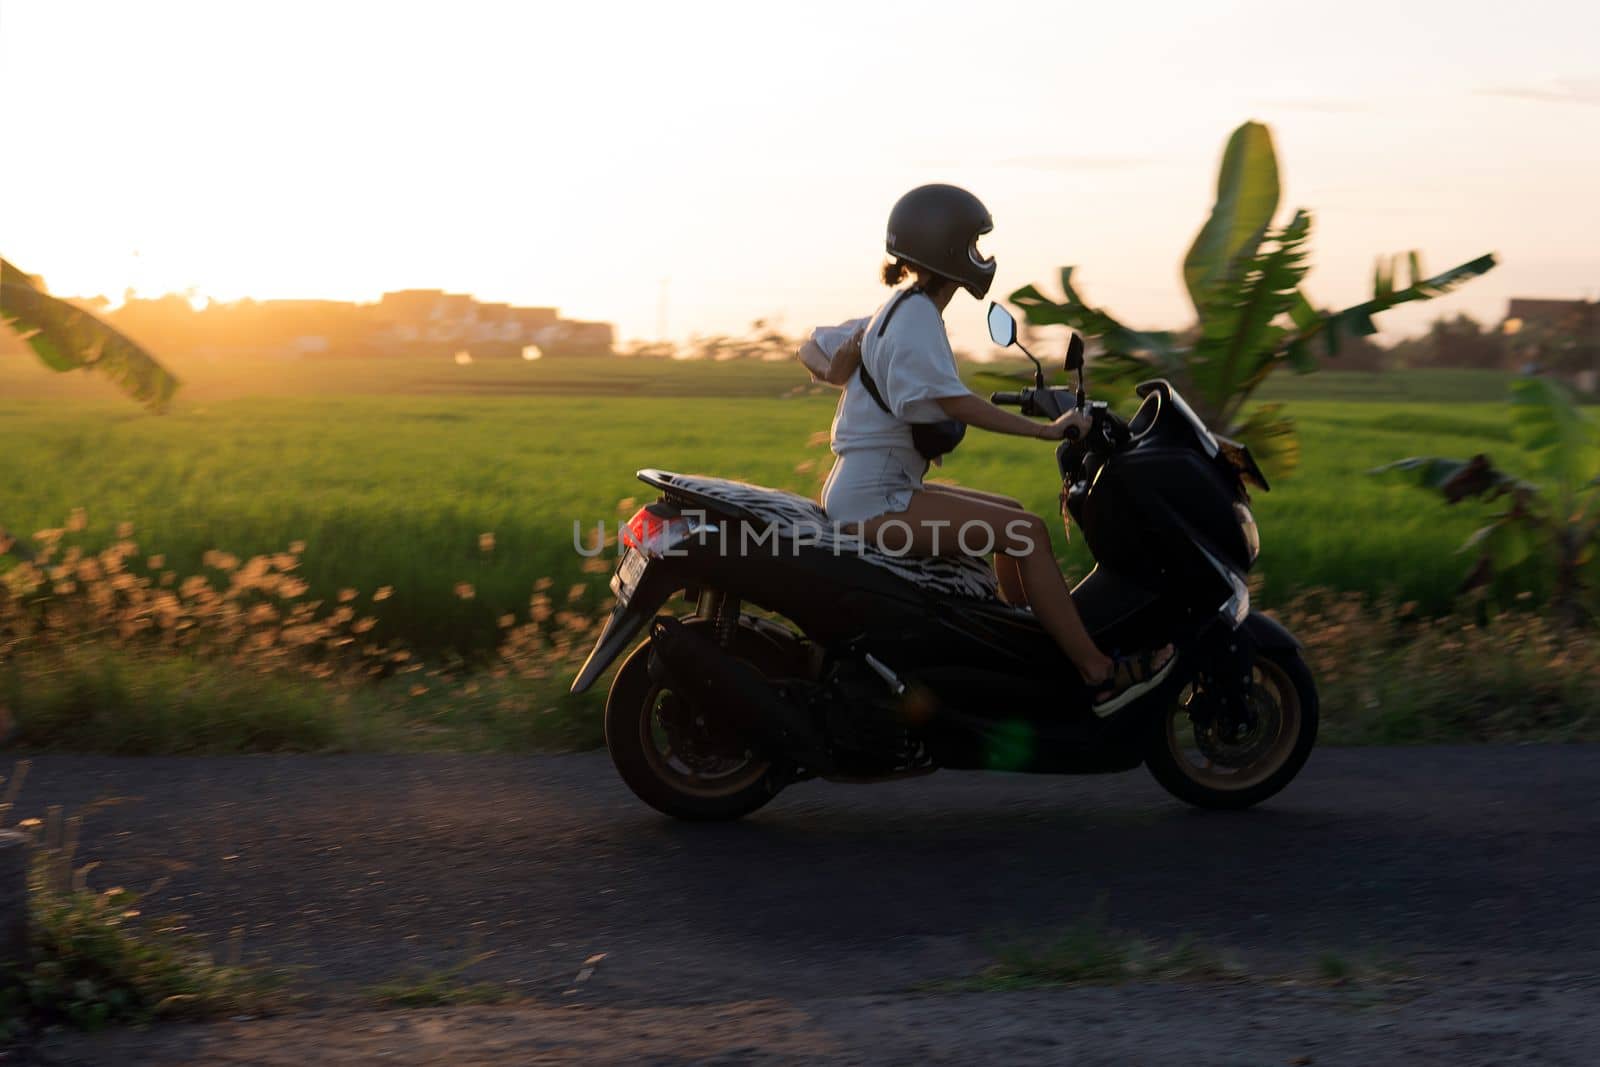
M 685 619 L 690 627 L 710 627 Z M 741 659 L 781 669 L 773 643 L 744 627 L 734 638 Z M 786 784 L 765 753 L 720 736 L 717 709 L 690 707 L 650 677 L 650 641 L 616 672 L 605 704 L 605 744 L 618 774 L 646 805 L 675 819 L 720 822 L 750 814 Z

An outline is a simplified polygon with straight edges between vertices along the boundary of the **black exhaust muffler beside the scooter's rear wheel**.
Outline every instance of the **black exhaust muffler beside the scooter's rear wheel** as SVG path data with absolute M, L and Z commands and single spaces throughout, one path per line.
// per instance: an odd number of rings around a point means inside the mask
M 819 771 L 827 763 L 822 737 L 805 709 L 787 701 L 760 670 L 669 616 L 650 627 L 650 677 L 670 681 L 696 709 L 726 715 L 752 739 L 781 744 Z

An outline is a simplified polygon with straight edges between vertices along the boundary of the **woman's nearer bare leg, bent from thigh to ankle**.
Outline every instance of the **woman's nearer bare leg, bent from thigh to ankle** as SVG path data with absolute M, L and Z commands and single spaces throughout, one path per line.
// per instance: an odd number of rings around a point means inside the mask
M 1056 640 L 1061 651 L 1077 665 L 1085 681 L 1099 683 L 1110 677 L 1114 662 L 1102 653 L 1078 617 L 1078 609 L 1061 577 L 1061 568 L 1050 550 L 1050 531 L 1045 520 L 1016 507 L 979 501 L 958 493 L 914 493 L 904 512 L 878 515 L 861 523 L 861 534 L 869 542 L 878 542 L 878 531 L 891 526 L 882 539 L 891 550 L 906 544 L 906 528 L 910 530 L 914 555 L 949 555 L 958 550 L 957 533 L 963 526 L 984 526 L 992 531 L 994 544 L 1018 568 L 1027 603 L 1040 625 Z M 976 534 L 968 536 L 971 544 Z

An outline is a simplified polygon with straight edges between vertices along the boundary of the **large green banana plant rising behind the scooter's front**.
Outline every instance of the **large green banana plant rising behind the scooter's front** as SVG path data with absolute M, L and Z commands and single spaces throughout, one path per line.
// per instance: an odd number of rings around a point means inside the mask
M 1198 323 L 1189 334 L 1125 326 L 1078 294 L 1074 267 L 1061 270 L 1061 301 L 1032 285 L 1010 299 L 1032 325 L 1072 326 L 1098 341 L 1098 381 L 1166 378 L 1206 424 L 1248 445 L 1269 477 L 1282 477 L 1299 462 L 1294 426 L 1282 410 L 1245 413 L 1261 384 L 1285 366 L 1301 374 L 1317 370 L 1318 352 L 1336 357 L 1350 339 L 1376 333 L 1374 315 L 1442 296 L 1490 270 L 1494 258 L 1480 256 L 1432 277 L 1424 275 L 1414 251 L 1379 259 L 1371 299 L 1320 310 L 1302 288 L 1310 270 L 1310 213 L 1294 211 L 1288 222 L 1274 226 L 1277 208 L 1272 134 L 1248 122 L 1227 142 L 1211 216 L 1184 258 L 1184 285 Z

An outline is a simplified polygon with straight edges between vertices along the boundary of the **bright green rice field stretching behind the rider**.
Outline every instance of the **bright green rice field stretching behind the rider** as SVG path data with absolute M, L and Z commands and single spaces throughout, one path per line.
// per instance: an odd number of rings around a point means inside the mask
M 491 646 L 533 585 L 584 573 L 573 523 L 614 523 L 645 498 L 637 467 L 813 493 L 827 470 L 834 394 L 794 363 L 429 360 L 178 366 L 170 414 L 150 416 L 80 374 L 0 357 L 0 526 L 27 536 L 85 509 L 86 537 L 133 523 L 144 553 L 198 573 L 304 541 L 314 593 L 394 595 L 381 633 L 422 651 Z M 987 378 L 979 387 L 990 387 Z M 1307 587 L 1450 603 L 1477 525 L 1365 472 L 1418 453 L 1488 451 L 1517 466 L 1494 373 L 1320 373 L 1274 382 L 1301 429 L 1299 472 L 1258 494 L 1266 605 Z M 1093 392 L 1093 382 L 1091 382 Z M 1051 446 L 974 434 L 941 477 L 1056 514 Z M 626 509 L 626 506 L 622 506 Z M 482 539 L 493 534 L 493 545 Z M 1059 531 L 1058 531 L 1059 536 Z M 592 533 L 586 533 L 586 539 Z M 1058 544 L 1082 574 L 1082 545 Z M 459 585 L 470 587 L 470 598 Z

